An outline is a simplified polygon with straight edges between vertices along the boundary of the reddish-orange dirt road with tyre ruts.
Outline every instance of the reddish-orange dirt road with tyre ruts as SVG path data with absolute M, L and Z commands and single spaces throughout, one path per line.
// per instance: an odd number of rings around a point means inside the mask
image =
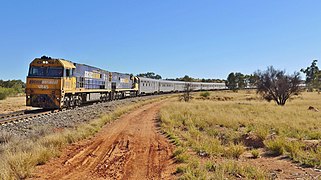
M 156 129 L 162 102 L 145 105 L 38 167 L 39 179 L 172 179 L 173 145 Z

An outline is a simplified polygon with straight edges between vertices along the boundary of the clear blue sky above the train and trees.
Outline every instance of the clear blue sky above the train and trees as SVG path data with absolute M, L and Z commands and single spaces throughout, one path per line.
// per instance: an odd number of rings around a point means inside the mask
M 0 79 L 42 55 L 108 71 L 226 79 L 321 57 L 320 0 L 0 0 Z

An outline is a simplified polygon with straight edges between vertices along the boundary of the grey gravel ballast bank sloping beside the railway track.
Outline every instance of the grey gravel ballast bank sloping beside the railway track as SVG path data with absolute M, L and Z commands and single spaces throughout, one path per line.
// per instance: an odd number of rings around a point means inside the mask
M 24 120 L 17 123 L 10 123 L 0 126 L 1 134 L 11 134 L 19 138 L 37 138 L 50 132 L 59 131 L 64 128 L 74 128 L 77 125 L 99 118 L 119 106 L 133 104 L 142 100 L 159 96 L 144 96 L 128 98 L 105 103 L 98 103 L 84 107 L 78 107 L 54 114 L 37 117 L 31 120 Z

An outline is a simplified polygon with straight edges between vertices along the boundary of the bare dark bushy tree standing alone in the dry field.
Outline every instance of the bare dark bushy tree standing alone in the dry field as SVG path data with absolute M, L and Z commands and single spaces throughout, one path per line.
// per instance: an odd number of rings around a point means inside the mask
M 255 72 L 257 76 L 257 93 L 267 101 L 275 101 L 278 105 L 285 105 L 286 101 L 300 92 L 300 74 L 285 74 L 285 71 L 276 70 L 273 66 L 266 71 Z

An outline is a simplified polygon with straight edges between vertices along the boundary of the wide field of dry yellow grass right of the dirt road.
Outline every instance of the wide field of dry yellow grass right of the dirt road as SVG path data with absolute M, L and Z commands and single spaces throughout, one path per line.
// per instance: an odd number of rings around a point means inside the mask
M 274 155 L 285 154 L 302 164 L 320 166 L 321 147 L 309 147 L 305 142 L 321 139 L 321 112 L 308 110 L 309 106 L 321 108 L 321 95 L 304 92 L 283 107 L 263 101 L 253 91 L 211 92 L 206 98 L 200 93 L 194 97 L 189 103 L 168 103 L 161 111 L 161 126 L 179 146 L 193 150 L 196 158 L 227 158 L 233 162 L 223 165 L 224 171 L 201 168 L 206 177 L 216 177 L 219 172 L 224 172 L 222 177 L 230 177 L 229 171 L 235 168 L 242 171 L 241 177 L 264 174 L 233 160 L 245 151 L 242 137 L 247 134 L 264 141 Z

